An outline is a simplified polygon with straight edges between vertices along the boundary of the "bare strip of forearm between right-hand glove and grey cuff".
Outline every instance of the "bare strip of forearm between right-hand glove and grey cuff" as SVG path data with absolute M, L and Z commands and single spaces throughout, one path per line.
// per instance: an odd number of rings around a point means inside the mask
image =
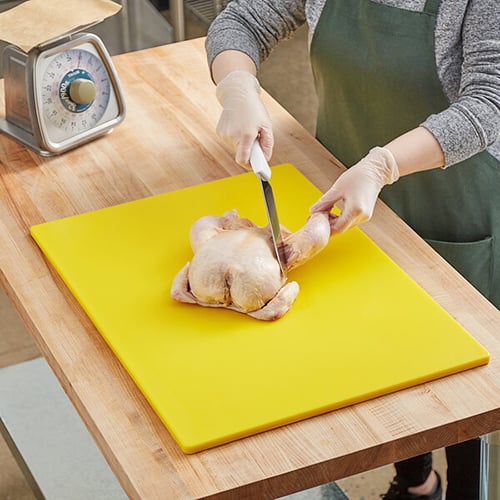
M 424 127 L 414 128 L 384 147 L 394 156 L 401 176 L 439 168 L 445 162 L 439 142 Z

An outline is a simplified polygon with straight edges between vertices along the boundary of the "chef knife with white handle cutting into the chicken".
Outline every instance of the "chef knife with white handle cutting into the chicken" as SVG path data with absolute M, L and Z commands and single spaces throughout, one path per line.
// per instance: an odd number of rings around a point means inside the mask
M 286 279 L 286 259 L 285 249 L 283 246 L 283 239 L 281 236 L 281 227 L 278 220 L 278 213 L 276 211 L 276 203 L 274 202 L 273 190 L 269 180 L 271 179 L 271 168 L 267 163 L 266 157 L 260 147 L 259 141 L 255 141 L 250 151 L 250 165 L 252 170 L 260 180 L 262 194 L 264 195 L 264 202 L 266 205 L 267 218 L 269 220 L 269 227 L 271 228 L 271 235 L 273 239 L 274 251 L 276 259 L 281 268 L 281 273 Z

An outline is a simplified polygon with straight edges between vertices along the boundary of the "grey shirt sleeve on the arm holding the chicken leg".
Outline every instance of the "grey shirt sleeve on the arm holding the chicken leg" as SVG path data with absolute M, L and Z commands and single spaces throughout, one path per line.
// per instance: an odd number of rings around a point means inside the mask
M 422 126 L 440 143 L 445 167 L 500 139 L 500 2 L 471 0 L 462 26 L 457 99 Z

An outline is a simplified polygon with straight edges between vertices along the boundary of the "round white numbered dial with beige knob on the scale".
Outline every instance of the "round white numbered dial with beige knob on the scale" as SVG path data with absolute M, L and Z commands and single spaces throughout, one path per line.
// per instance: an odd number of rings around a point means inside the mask
M 106 67 L 95 54 L 83 49 L 63 52 L 43 74 L 44 116 L 69 134 L 84 132 L 104 115 L 110 89 Z

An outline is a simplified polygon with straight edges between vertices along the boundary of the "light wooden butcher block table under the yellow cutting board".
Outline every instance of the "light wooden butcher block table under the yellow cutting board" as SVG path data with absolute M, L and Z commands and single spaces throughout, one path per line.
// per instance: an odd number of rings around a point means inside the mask
M 100 140 L 41 158 L 0 137 L 1 283 L 127 494 L 274 498 L 500 428 L 499 311 L 379 203 L 363 232 L 489 352 L 489 363 L 181 451 L 30 229 L 242 172 L 215 135 L 220 106 L 203 43 L 115 57 L 128 114 Z M 326 190 L 343 167 L 270 96 L 264 100 L 276 135 L 272 163 L 293 163 Z

